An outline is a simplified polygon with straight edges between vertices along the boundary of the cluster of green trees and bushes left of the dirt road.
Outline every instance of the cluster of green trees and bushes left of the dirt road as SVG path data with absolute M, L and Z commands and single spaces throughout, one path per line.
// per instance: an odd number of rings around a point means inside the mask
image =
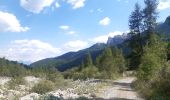
M 126 70 L 122 51 L 116 47 L 105 48 L 93 62 L 90 53 L 82 64 L 64 73 L 65 78 L 77 79 L 116 79 Z

